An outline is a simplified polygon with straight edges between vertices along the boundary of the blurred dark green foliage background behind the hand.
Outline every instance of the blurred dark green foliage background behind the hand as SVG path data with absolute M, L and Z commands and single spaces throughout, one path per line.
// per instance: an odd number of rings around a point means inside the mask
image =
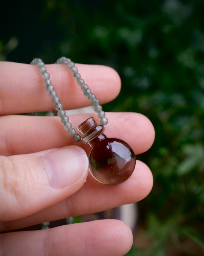
M 137 158 L 154 186 L 127 255 L 204 255 L 204 1 L 5 1 L 0 20 L 0 60 L 111 66 L 122 90 L 104 110 L 153 123 L 155 143 Z

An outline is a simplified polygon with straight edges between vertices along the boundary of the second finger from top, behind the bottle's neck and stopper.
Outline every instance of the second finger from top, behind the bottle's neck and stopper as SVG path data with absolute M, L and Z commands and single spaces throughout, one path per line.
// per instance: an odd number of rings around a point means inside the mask
M 70 121 L 77 127 L 96 114 L 72 115 Z M 107 113 L 107 137 L 119 138 L 133 148 L 135 154 L 147 151 L 155 138 L 154 128 L 145 116 L 138 113 Z M 58 117 L 2 116 L 0 117 L 0 155 L 28 154 L 50 148 L 74 144 L 63 129 Z M 89 146 L 75 143 L 87 152 Z

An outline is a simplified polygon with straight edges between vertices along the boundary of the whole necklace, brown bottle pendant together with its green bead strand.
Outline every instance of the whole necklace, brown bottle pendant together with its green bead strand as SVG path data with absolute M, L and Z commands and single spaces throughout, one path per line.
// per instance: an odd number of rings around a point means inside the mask
M 60 103 L 60 99 L 57 97 L 54 86 L 49 79 L 50 75 L 45 68 L 45 63 L 39 58 L 34 58 L 31 61 L 31 64 L 35 64 L 42 74 L 44 85 L 49 92 L 49 97 L 52 98 L 55 104 L 57 116 L 60 117 L 61 122 L 64 124 L 64 129 L 68 131 L 68 134 L 73 137 L 74 141 L 79 142 L 82 140 L 91 146 L 92 149 L 89 155 L 89 170 L 91 175 L 97 181 L 108 185 L 116 185 L 126 181 L 134 171 L 136 160 L 133 150 L 124 141 L 105 136 L 103 133 L 104 125 L 108 123 L 108 119 L 105 117 L 105 112 L 102 111 L 99 99 L 96 98 L 95 94 L 91 93 L 88 85 L 80 78 L 80 74 L 74 63 L 66 57 L 59 58 L 56 63 L 65 64 L 70 69 L 74 79 L 77 80 L 77 85 L 81 87 L 83 94 L 88 96 L 88 100 L 92 102 L 94 110 L 102 124 L 97 125 L 93 117 L 87 119 L 78 127 L 78 130 L 83 135 L 81 138 L 72 127 L 68 116 L 66 116 L 66 112 L 63 110 L 63 105 Z

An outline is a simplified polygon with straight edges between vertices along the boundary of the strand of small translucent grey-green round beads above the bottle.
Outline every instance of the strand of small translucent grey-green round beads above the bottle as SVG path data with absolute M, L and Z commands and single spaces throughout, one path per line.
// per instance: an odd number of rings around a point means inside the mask
M 95 94 L 91 93 L 91 90 L 88 88 L 88 85 L 85 84 L 84 80 L 81 79 L 80 74 L 78 73 L 78 69 L 75 67 L 73 61 L 69 58 L 61 57 L 56 61 L 57 64 L 65 64 L 67 68 L 70 69 L 71 74 L 74 77 L 74 80 L 77 81 L 77 85 L 80 86 L 83 94 L 88 97 L 88 100 L 91 101 L 94 111 L 97 113 L 97 116 L 100 118 L 100 124 L 105 126 L 108 123 L 108 119 L 105 117 L 105 112 L 102 110 L 102 106 L 100 105 L 99 99 L 96 98 Z M 68 131 L 68 134 L 73 137 L 73 140 L 79 142 L 81 140 L 81 136 L 76 133 L 76 130 L 72 127 L 72 124 L 69 122 L 69 118 L 66 115 L 65 110 L 63 110 L 63 105 L 60 102 L 59 97 L 57 97 L 57 93 L 54 90 L 54 86 L 51 83 L 50 75 L 45 68 L 45 63 L 40 58 L 34 58 L 31 61 L 31 64 L 37 66 L 42 74 L 42 78 L 44 81 L 44 85 L 46 87 L 46 91 L 49 93 L 49 97 L 51 97 L 53 104 L 55 105 L 55 109 L 57 111 L 57 116 L 59 116 L 61 122 L 64 125 L 64 129 Z

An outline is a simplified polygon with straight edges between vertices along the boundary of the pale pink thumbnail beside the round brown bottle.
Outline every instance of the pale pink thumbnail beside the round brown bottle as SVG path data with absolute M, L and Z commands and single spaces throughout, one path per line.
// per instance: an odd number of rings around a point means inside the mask
M 78 146 L 56 149 L 42 156 L 49 183 L 65 188 L 80 182 L 88 170 L 86 152 Z

